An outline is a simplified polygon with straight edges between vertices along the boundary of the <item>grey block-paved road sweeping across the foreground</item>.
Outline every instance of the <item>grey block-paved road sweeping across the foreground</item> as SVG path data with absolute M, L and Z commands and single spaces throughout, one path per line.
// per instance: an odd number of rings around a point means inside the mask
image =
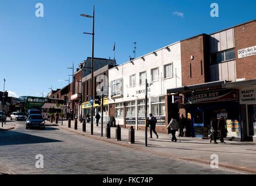
M 14 130 L 0 132 L 0 173 L 16 174 L 244 174 L 157 156 L 93 140 L 57 126 L 26 130 L 24 121 Z M 36 168 L 36 155 L 44 168 Z

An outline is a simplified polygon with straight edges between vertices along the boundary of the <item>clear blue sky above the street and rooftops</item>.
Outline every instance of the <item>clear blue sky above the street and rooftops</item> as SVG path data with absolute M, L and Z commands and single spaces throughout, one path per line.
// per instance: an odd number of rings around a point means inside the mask
M 36 17 L 36 3 L 43 3 L 44 17 Z M 218 3 L 219 17 L 211 17 L 211 3 Z M 12 95 L 42 95 L 68 84 L 68 75 L 92 56 L 95 5 L 97 58 L 121 64 L 197 34 L 211 34 L 256 19 L 256 1 L 151 1 L 151 0 L 0 0 L 0 90 Z M 176 13 L 175 13 L 176 12 Z

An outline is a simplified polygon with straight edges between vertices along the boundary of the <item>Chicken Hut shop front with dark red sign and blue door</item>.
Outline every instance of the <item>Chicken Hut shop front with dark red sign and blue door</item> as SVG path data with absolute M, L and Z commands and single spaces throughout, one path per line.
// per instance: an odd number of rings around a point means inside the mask
M 211 119 L 224 117 L 227 137 L 241 137 L 241 114 L 238 90 L 220 89 L 184 94 L 187 119 L 192 137 L 211 134 Z

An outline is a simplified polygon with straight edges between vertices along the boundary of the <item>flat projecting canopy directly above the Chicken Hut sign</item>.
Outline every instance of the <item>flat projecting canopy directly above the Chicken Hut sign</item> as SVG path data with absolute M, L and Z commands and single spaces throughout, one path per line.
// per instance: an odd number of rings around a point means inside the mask
M 167 94 L 178 94 L 191 92 L 192 90 L 207 90 L 208 88 L 222 88 L 222 85 L 226 84 L 226 81 L 213 81 L 209 83 L 202 83 L 196 85 L 188 85 L 184 87 L 171 88 L 167 90 Z

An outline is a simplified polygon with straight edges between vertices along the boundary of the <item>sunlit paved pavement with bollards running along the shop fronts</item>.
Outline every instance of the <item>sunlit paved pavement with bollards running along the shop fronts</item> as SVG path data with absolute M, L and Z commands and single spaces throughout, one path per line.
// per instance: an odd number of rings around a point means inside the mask
M 73 130 L 74 121 L 71 122 Z M 59 122 L 59 127 L 67 128 L 68 121 Z M 103 125 L 106 127 L 106 123 Z M 78 121 L 78 133 L 82 134 L 82 123 Z M 94 124 L 94 135 L 101 137 L 101 124 L 96 127 Z M 121 128 L 121 145 L 128 144 L 127 128 Z M 86 124 L 86 135 L 90 135 L 90 124 Z M 103 128 L 103 137 L 105 137 L 105 128 Z M 149 137 L 149 132 L 148 132 Z M 156 139 L 153 134 L 153 139 L 148 139 L 148 147 L 145 147 L 145 131 L 135 131 L 135 144 L 131 144 L 136 148 L 145 152 L 153 152 L 157 155 L 170 156 L 173 158 L 183 158 L 187 160 L 197 160 L 200 162 L 211 163 L 211 156 L 218 155 L 219 165 L 229 167 L 232 169 L 246 170 L 256 173 L 256 143 L 255 142 L 241 142 L 241 141 L 227 141 L 226 144 L 210 144 L 209 140 L 202 140 L 202 138 L 181 137 L 180 141 L 177 137 L 177 142 L 171 142 L 171 134 L 159 133 L 159 138 Z M 111 127 L 111 139 L 108 141 L 114 142 L 115 128 Z M 219 140 L 218 140 L 219 142 Z

